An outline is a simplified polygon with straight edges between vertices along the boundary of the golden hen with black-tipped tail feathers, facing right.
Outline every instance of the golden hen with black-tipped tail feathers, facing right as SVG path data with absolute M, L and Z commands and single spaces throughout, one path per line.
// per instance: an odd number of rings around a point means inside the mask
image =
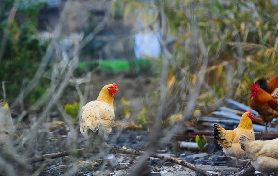
M 226 155 L 235 157 L 237 166 L 239 165 L 239 158 L 242 158 L 245 154 L 238 143 L 238 137 L 245 134 L 251 140 L 255 140 L 251 120 L 252 115 L 250 110 L 246 110 L 246 112 L 242 114 L 237 128 L 234 130 L 226 130 L 217 123 L 213 124 L 214 138 L 217 139 L 218 144 L 223 147 L 223 152 Z

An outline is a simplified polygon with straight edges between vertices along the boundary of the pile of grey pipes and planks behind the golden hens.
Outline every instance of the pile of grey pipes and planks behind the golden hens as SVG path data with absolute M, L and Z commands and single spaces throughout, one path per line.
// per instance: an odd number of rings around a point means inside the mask
M 213 112 L 213 116 L 204 116 L 199 118 L 200 126 L 202 130 L 195 128 L 185 129 L 184 134 L 176 136 L 178 141 L 193 142 L 191 144 L 185 142 L 179 142 L 180 148 L 194 148 L 197 146 L 195 144 L 195 138 L 197 135 L 204 135 L 207 138 L 209 144 L 217 144 L 217 141 L 213 136 L 213 123 L 218 123 L 227 130 L 235 129 L 241 119 L 242 114 L 247 110 L 251 110 L 254 117 L 252 117 L 253 130 L 255 133 L 255 140 L 271 140 L 278 137 L 278 122 L 277 119 L 273 119 L 271 122 L 271 132 L 264 132 L 265 124 L 263 120 L 258 116 L 258 113 L 255 110 L 252 110 L 250 107 L 243 105 L 239 102 L 227 99 L 225 101 L 227 107 L 220 107 L 218 111 Z M 188 146 L 189 145 L 189 146 Z

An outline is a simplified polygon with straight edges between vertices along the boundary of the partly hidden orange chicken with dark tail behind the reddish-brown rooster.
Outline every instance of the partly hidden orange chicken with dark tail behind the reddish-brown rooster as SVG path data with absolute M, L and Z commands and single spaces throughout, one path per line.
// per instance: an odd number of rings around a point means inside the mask
M 256 83 L 258 83 L 259 87 L 267 93 L 275 94 L 277 92 L 276 88 L 278 88 L 278 75 L 270 78 L 268 81 L 265 79 L 259 79 Z

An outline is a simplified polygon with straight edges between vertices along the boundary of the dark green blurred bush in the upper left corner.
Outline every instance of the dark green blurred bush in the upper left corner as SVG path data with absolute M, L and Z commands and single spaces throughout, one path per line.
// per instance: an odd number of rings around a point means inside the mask
M 37 1 L 19 1 L 17 15 L 23 17 L 23 21 L 11 21 L 9 36 L 6 44 L 2 44 L 4 29 L 14 0 L 0 0 L 0 47 L 5 46 L 3 57 L 0 58 L 0 82 L 7 84 L 6 93 L 8 99 L 14 99 L 34 76 L 41 58 L 46 51 L 46 44 L 40 44 L 36 34 L 37 14 L 40 7 L 46 3 Z M 20 27 L 19 27 L 20 26 Z M 44 81 L 43 83 L 46 83 Z M 41 84 L 40 87 L 45 86 Z M 35 90 L 28 101 L 34 101 L 43 91 Z M 45 88 L 43 88 L 45 89 Z M 35 96 L 36 95 L 36 96 Z

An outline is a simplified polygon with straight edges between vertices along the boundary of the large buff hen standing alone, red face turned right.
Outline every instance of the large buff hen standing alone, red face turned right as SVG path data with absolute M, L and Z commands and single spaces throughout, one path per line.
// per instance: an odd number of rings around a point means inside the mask
M 83 136 L 87 137 L 90 130 L 93 132 L 98 130 L 100 138 L 107 141 L 114 122 L 113 100 L 117 90 L 115 83 L 105 85 L 96 100 L 82 107 L 79 127 Z

